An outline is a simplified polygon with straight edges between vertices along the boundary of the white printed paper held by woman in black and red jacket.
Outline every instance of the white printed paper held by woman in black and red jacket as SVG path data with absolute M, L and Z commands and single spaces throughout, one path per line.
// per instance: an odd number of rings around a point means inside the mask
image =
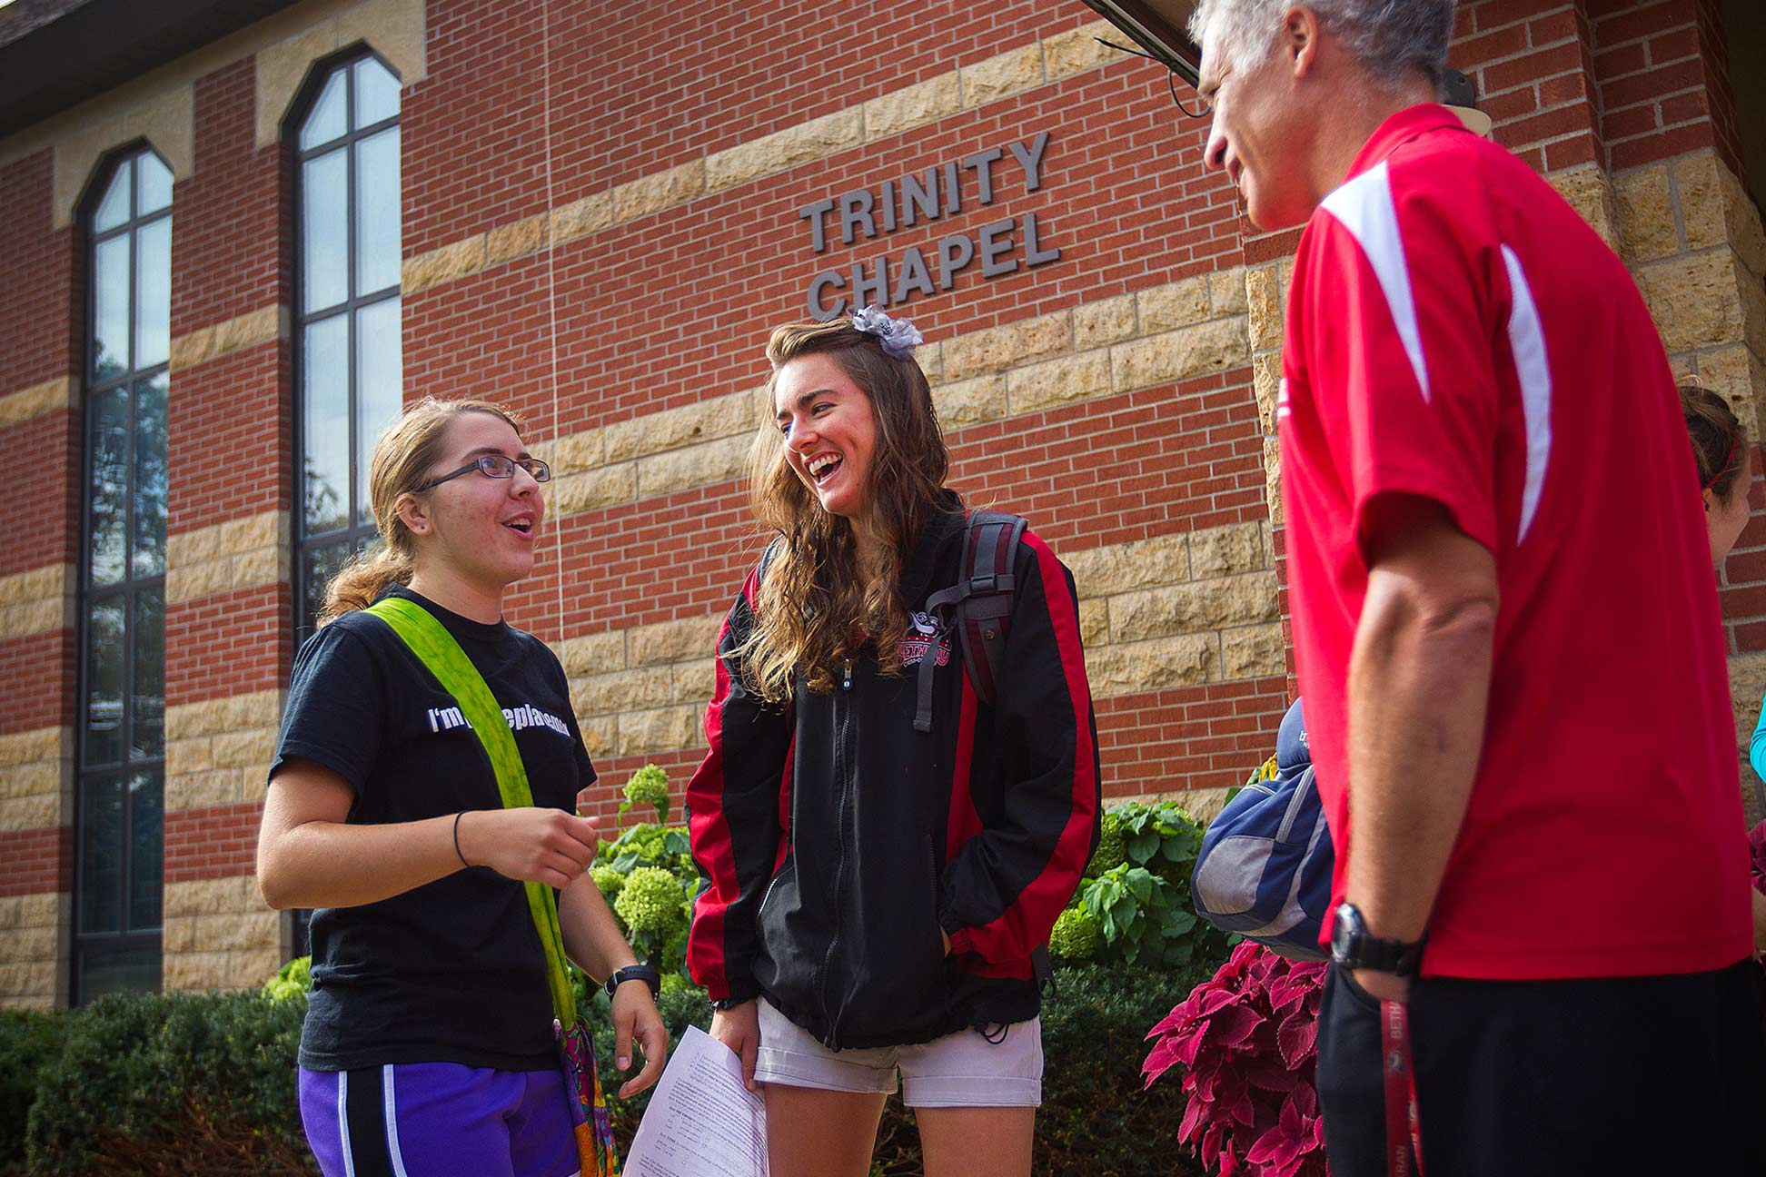
M 742 1085 L 742 1059 L 698 1025 L 650 1096 L 625 1177 L 766 1177 L 766 1106 Z

